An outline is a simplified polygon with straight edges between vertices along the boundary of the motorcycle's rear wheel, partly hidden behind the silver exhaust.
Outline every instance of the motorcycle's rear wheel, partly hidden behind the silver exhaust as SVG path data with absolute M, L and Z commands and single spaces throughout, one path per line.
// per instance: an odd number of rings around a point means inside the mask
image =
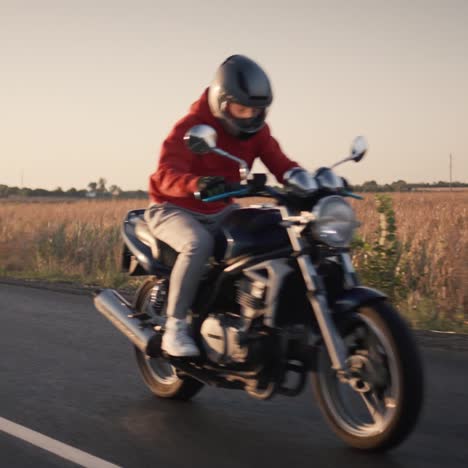
M 138 312 L 145 312 L 151 317 L 165 318 L 164 310 L 156 316 L 151 306 L 152 289 L 157 285 L 157 279 L 150 279 L 139 289 L 134 308 Z M 181 379 L 175 368 L 163 357 L 153 358 L 135 347 L 136 360 L 143 380 L 147 387 L 160 398 L 174 400 L 188 400 L 195 396 L 203 387 L 198 380 L 190 377 Z

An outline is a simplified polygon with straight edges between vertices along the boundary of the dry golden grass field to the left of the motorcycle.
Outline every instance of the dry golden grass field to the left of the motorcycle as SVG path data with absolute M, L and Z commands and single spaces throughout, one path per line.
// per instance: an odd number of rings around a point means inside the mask
M 120 285 L 120 224 L 145 201 L 0 203 L 0 273 Z

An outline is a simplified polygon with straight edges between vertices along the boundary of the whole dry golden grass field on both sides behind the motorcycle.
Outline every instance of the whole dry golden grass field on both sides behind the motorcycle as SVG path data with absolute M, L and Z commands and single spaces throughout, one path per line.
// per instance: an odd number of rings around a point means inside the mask
M 416 325 L 468 325 L 468 192 L 391 195 L 399 306 Z M 264 201 L 264 199 L 262 200 Z M 244 201 L 245 202 L 245 201 Z M 352 201 L 361 239 L 378 239 L 376 199 Z M 0 202 L 0 275 L 121 286 L 120 223 L 144 200 Z M 359 254 L 359 252 L 357 252 Z M 378 278 L 376 278 L 378 284 Z

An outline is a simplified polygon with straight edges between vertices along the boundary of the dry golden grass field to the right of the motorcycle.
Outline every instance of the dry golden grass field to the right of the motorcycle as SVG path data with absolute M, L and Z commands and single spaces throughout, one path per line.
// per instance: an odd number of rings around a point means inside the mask
M 391 195 L 401 282 L 399 307 L 415 324 L 468 331 L 468 191 Z M 375 197 L 354 202 L 360 235 L 377 239 Z M 457 324 L 455 326 L 454 324 Z

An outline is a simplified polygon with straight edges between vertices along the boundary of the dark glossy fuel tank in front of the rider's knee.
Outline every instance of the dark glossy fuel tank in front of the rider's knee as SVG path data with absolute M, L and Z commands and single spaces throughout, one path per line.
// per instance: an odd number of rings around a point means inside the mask
M 287 247 L 289 237 L 281 226 L 281 214 L 273 208 L 241 208 L 224 221 L 225 261 Z

